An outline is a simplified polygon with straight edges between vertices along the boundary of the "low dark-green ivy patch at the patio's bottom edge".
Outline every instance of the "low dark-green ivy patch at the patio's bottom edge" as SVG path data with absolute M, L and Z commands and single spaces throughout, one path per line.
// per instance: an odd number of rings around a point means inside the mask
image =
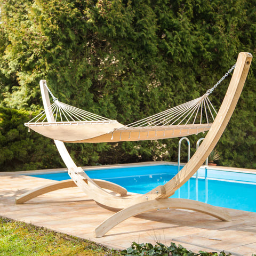
M 121 252 L 122 255 L 125 256 L 228 256 L 231 255 L 226 254 L 225 252 L 217 253 L 217 252 L 202 252 L 194 253 L 188 251 L 181 245 L 176 245 L 171 243 L 170 246 L 166 246 L 161 243 L 156 243 L 156 245 L 152 245 L 149 243 L 146 244 L 137 244 L 135 242 L 132 243 L 132 246 L 127 250 L 123 250 Z

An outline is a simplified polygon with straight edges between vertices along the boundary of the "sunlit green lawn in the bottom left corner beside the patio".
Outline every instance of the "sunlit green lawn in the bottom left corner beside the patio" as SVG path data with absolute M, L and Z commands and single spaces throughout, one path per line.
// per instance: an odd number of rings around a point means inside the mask
M 0 217 L 1 256 L 117 256 L 96 243 Z

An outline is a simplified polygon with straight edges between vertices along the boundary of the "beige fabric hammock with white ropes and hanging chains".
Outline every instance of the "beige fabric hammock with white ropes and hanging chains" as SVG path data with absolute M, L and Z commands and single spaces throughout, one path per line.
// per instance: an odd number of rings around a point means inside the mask
M 209 95 L 234 68 L 201 97 L 128 125 L 60 102 L 43 80 L 53 103 L 25 125 L 45 137 L 73 143 L 158 140 L 205 132 L 217 115 Z M 46 121 L 47 113 L 52 122 Z

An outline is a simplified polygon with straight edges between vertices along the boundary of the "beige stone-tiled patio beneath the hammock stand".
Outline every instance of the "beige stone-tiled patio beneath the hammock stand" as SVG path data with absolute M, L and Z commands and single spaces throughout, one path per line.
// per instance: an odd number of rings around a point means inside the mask
M 225 250 L 233 255 L 256 254 L 256 213 L 253 212 L 227 209 L 233 221 L 224 222 L 193 211 L 152 211 L 120 223 L 104 237 L 94 238 L 94 228 L 113 212 L 98 206 L 79 188 L 53 191 L 15 205 L 15 197 L 52 181 L 10 172 L 0 172 L 0 179 L 0 215 L 3 217 L 115 249 L 129 247 L 133 241 L 166 245 L 174 242 L 194 252 Z

